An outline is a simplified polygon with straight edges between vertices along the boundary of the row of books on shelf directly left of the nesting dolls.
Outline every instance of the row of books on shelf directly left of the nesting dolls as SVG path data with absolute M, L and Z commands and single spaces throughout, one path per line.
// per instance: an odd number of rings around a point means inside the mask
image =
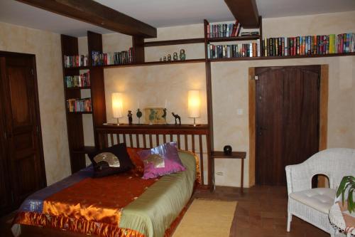
M 116 65 L 133 63 L 133 48 L 129 51 L 100 53 L 92 51 L 92 65 Z

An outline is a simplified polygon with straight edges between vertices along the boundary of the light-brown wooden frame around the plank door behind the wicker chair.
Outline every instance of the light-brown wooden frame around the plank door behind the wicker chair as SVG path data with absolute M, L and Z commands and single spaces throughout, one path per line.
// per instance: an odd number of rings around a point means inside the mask
M 287 65 L 285 65 L 286 67 Z M 249 186 L 255 185 L 256 172 L 256 82 L 255 68 L 249 68 Z M 327 149 L 329 65 L 320 65 L 320 144 L 319 150 Z M 325 186 L 325 179 L 318 180 Z

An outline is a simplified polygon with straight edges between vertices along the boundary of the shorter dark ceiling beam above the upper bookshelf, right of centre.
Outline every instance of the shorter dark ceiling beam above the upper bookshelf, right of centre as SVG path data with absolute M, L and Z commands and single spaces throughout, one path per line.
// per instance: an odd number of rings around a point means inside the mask
M 258 28 L 259 14 L 255 0 L 224 0 L 243 28 Z

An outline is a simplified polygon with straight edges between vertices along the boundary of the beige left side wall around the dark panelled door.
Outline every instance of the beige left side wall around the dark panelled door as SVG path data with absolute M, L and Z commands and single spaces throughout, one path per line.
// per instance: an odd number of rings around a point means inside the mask
M 0 22 L 0 51 L 35 54 L 47 184 L 70 174 L 60 35 Z

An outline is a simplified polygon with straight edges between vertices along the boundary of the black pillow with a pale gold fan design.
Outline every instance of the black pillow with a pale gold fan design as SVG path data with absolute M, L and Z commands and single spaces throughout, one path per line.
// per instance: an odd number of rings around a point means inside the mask
M 105 177 L 126 172 L 133 168 L 124 143 L 116 144 L 88 155 L 94 166 L 94 177 Z

